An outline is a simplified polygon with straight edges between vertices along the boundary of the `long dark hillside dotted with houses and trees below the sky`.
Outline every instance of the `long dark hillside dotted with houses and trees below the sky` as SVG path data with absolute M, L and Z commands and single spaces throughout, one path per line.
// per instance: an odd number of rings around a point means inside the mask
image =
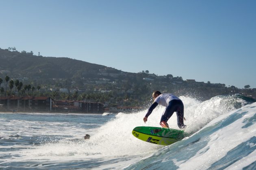
M 147 105 L 152 91 L 156 90 L 202 101 L 217 95 L 234 94 L 256 99 L 256 89 L 249 87 L 238 89 L 210 81 L 183 80 L 171 74 L 157 76 L 149 74 L 148 70 L 139 73 L 122 72 L 65 57 L 43 57 L 33 55 L 32 52 L 0 49 L 0 78 L 3 84 L 7 75 L 24 85 L 41 86 L 41 96 L 52 96 L 60 100 L 90 98 L 92 101 L 107 103 L 108 106 Z M 5 88 L 3 84 L 2 88 Z

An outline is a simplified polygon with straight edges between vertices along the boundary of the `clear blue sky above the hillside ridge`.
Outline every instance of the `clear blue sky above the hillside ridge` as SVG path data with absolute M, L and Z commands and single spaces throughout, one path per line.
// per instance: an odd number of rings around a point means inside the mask
M 256 88 L 255 0 L 0 0 L 0 48 Z

